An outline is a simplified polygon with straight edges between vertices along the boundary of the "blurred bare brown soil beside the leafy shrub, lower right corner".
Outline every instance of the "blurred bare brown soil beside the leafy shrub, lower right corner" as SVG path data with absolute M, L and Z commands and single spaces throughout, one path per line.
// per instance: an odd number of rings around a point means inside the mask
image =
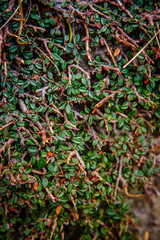
M 131 212 L 137 219 L 139 240 L 160 239 L 160 182 L 159 176 L 154 177 L 154 192 L 144 198 L 128 199 L 131 202 Z M 152 189 L 153 191 L 153 189 Z

